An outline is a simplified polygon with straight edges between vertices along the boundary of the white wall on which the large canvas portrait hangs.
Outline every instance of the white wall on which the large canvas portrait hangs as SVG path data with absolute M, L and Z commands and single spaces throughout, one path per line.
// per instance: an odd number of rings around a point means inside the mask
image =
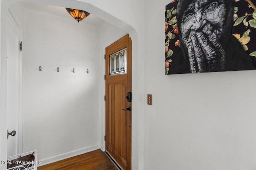
M 164 75 L 170 2 L 145 1 L 145 169 L 256 169 L 256 70 Z

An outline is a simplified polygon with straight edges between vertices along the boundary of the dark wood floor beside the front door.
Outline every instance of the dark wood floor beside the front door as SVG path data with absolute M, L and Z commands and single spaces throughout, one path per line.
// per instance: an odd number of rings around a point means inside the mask
M 40 166 L 38 170 L 118 170 L 102 150 Z

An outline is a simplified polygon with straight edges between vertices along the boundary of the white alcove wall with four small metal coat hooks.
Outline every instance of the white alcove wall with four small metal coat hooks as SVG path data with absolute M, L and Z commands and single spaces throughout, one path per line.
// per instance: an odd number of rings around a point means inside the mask
M 44 163 L 100 148 L 99 28 L 24 11 L 23 152 L 36 149 Z

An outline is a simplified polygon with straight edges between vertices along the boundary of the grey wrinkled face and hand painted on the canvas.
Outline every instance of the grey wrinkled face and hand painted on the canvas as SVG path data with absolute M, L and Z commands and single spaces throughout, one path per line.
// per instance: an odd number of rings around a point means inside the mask
M 225 52 L 220 43 L 225 15 L 222 0 L 194 0 L 184 11 L 180 30 L 188 49 L 191 73 L 225 69 Z

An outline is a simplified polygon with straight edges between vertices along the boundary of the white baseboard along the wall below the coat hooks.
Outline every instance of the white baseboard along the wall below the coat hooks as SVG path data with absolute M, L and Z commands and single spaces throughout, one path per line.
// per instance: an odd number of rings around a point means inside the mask
M 74 150 L 74 151 L 71 151 L 71 152 L 68 152 L 68 153 L 65 153 L 65 154 L 59 154 L 57 156 L 42 159 L 41 160 L 42 164 L 38 164 L 37 166 L 39 167 L 39 166 L 43 166 L 43 165 L 46 165 L 46 164 L 57 162 L 59 160 L 63 160 L 63 159 L 66 159 L 66 158 L 71 158 L 73 156 L 78 156 L 78 155 L 81 155 L 81 154 L 85 154 L 87 152 L 91 152 L 91 151 L 94 151 L 94 150 L 97 150 L 97 149 L 100 149 L 100 148 L 101 148 L 101 146 L 100 146 L 100 144 L 98 144 L 98 145 L 91 146 L 91 147 L 88 147 L 88 148 L 82 148 L 82 149 L 79 149 L 79 150 Z

